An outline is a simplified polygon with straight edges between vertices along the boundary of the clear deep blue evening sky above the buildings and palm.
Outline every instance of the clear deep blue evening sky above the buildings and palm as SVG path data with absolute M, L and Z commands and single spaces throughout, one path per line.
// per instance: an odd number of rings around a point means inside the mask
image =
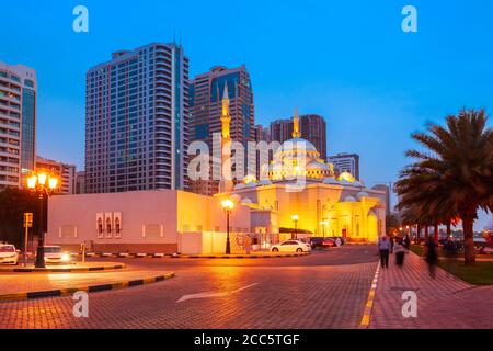
M 89 33 L 72 10 L 89 9 Z M 417 33 L 401 30 L 404 5 Z M 245 64 L 256 123 L 328 122 L 328 152 L 357 152 L 367 185 L 393 182 L 410 134 L 462 106 L 493 114 L 493 1 L 2 1 L 0 60 L 37 70 L 38 154 L 83 168 L 84 76 L 111 53 L 181 37 L 191 77 Z M 493 124 L 493 117 L 489 125 Z M 478 226 L 492 222 L 482 215 Z

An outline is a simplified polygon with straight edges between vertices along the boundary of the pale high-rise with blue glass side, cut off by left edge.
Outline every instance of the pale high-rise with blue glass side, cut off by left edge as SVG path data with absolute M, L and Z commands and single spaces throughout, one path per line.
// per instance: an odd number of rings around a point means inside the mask
M 34 170 L 36 99 L 36 71 L 0 63 L 0 189 L 22 186 Z

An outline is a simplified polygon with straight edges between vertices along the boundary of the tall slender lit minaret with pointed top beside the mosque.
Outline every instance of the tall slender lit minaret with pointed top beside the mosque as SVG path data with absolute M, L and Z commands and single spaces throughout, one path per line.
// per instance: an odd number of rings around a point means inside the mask
M 231 177 L 231 115 L 229 114 L 229 94 L 228 83 L 225 84 L 222 93 L 222 114 L 221 114 L 221 180 L 219 182 L 219 192 L 228 192 L 233 189 Z

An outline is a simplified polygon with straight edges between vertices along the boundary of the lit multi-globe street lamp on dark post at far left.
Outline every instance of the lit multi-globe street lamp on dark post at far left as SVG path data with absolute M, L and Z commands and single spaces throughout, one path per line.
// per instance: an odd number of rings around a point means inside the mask
M 39 199 L 39 220 L 38 220 L 38 234 L 37 234 L 37 251 L 36 251 L 36 262 L 35 268 L 45 268 L 45 228 L 44 228 L 44 203 L 55 189 L 58 186 L 58 178 L 54 174 L 48 174 L 46 172 L 33 173 L 27 178 L 27 188 L 38 195 Z

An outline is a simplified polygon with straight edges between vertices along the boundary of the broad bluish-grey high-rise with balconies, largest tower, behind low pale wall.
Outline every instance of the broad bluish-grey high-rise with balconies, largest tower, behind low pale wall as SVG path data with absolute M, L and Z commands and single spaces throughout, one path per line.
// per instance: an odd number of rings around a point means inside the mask
M 87 73 L 88 193 L 186 189 L 188 58 L 176 44 L 113 54 Z

